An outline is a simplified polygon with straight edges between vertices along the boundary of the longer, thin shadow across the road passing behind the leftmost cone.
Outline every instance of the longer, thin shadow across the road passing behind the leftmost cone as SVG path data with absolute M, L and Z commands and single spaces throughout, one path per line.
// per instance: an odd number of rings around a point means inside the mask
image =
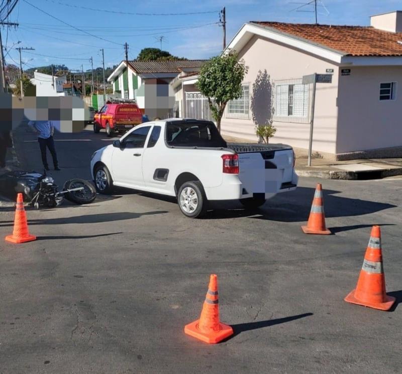
M 68 223 L 101 223 L 101 222 L 112 222 L 121 221 L 125 219 L 139 218 L 143 215 L 154 215 L 168 213 L 165 210 L 144 212 L 144 213 L 133 213 L 133 212 L 116 212 L 116 213 L 104 213 L 104 214 L 88 214 L 88 215 L 77 215 L 73 217 L 62 217 L 62 218 L 46 218 L 46 219 L 30 219 L 29 225 L 62 225 Z M 13 226 L 13 223 L 7 225 L 0 224 L 0 227 Z

